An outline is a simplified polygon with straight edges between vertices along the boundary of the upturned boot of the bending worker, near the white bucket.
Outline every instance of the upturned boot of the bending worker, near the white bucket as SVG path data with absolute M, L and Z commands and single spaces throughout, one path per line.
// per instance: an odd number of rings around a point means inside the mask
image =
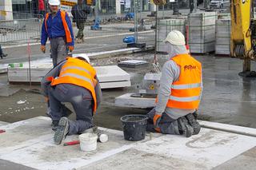
M 69 120 L 66 117 L 62 117 L 58 122 L 58 128 L 54 133 L 54 143 L 61 144 L 62 140 L 65 139 L 67 133 L 69 132 Z

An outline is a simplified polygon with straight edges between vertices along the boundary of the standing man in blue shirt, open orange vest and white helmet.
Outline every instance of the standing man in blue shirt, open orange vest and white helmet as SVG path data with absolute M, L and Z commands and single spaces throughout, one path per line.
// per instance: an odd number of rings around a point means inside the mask
M 74 34 L 70 18 L 65 11 L 59 10 L 59 0 L 49 0 L 50 13 L 42 24 L 41 50 L 46 52 L 47 38 L 50 39 L 50 52 L 56 66 L 64 60 L 68 51 L 74 50 Z

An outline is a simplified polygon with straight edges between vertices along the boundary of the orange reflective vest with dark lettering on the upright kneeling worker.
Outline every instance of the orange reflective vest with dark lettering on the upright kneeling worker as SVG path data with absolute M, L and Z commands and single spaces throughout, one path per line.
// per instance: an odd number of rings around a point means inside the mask
M 177 81 L 170 85 L 171 93 L 167 108 L 198 109 L 202 95 L 202 65 L 189 54 L 172 57 L 180 74 Z

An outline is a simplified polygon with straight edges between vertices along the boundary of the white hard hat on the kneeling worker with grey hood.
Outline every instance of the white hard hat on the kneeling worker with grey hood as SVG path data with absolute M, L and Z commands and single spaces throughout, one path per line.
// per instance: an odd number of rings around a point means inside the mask
M 170 42 L 172 45 L 185 45 L 184 35 L 178 30 L 172 30 L 167 35 L 165 42 Z

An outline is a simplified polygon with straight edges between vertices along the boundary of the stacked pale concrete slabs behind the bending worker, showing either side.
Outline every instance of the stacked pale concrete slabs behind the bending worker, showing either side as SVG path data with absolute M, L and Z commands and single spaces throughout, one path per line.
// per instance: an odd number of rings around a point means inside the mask
M 52 63 L 48 59 L 31 62 L 31 81 L 39 83 L 42 77 L 46 75 L 52 68 Z M 98 73 L 98 80 L 102 85 L 102 89 L 121 88 L 130 86 L 130 74 L 126 73 L 117 65 L 96 66 L 94 67 Z M 29 65 L 24 63 L 23 67 L 8 68 L 8 81 L 10 82 L 29 82 Z M 106 84 L 102 84 L 106 83 Z

